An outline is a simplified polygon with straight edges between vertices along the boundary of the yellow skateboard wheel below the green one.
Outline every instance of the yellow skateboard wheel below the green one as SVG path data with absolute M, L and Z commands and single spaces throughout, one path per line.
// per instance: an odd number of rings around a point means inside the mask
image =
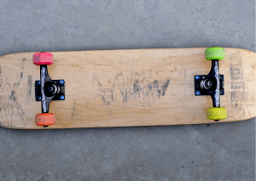
M 209 120 L 224 120 L 227 118 L 227 110 L 224 107 L 212 107 L 207 109 Z

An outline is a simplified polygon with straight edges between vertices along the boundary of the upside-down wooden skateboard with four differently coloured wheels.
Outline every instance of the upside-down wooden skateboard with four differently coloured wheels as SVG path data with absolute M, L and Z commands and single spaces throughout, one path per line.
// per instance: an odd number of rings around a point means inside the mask
M 256 116 L 256 54 L 240 48 L 19 53 L 0 57 L 0 126 L 137 127 Z

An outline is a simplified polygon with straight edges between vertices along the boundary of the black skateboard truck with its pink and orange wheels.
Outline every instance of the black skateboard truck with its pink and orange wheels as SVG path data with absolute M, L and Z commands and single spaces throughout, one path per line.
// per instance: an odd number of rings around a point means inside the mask
M 48 127 L 55 124 L 55 115 L 49 113 L 51 100 L 65 100 L 64 80 L 52 80 L 47 71 L 47 65 L 53 63 L 53 55 L 50 53 L 33 54 L 34 65 L 40 65 L 40 81 L 35 82 L 36 101 L 41 101 L 42 113 L 36 116 L 38 126 Z

